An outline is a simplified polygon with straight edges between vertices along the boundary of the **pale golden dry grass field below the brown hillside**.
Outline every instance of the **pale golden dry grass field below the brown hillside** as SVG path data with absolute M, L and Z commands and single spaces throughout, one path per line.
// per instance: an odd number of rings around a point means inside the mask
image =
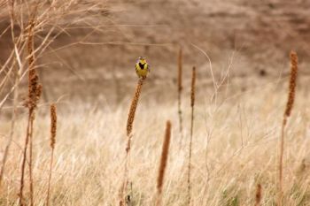
M 209 109 L 213 105 L 205 106 L 203 101 L 196 103 L 195 134 L 192 156 L 192 196 L 193 205 L 225 205 L 229 202 L 238 202 L 238 205 L 254 205 L 255 195 L 252 189 L 256 186 L 255 179 L 260 179 L 264 186 L 264 196 L 261 205 L 271 205 L 275 198 L 275 147 L 277 145 L 277 132 L 280 129 L 278 119 L 283 115 L 284 103 L 279 99 L 286 94 L 286 89 L 275 90 L 275 85 L 260 88 L 260 93 L 253 96 L 252 93 L 238 95 L 230 98 L 221 105 L 221 110 L 213 112 L 213 121 L 209 117 Z M 151 95 L 143 96 L 143 99 L 151 98 Z M 266 103 L 267 100 L 267 103 Z M 286 163 L 290 164 L 290 171 L 285 172 L 284 187 L 286 200 L 289 205 L 309 203 L 309 180 L 307 179 L 309 162 L 307 159 L 310 142 L 306 138 L 309 135 L 306 119 L 310 119 L 308 104 L 302 95 L 296 97 L 295 108 L 299 111 L 291 117 L 287 126 L 288 138 L 286 139 L 287 156 Z M 143 102 L 143 101 L 142 101 Z M 55 152 L 55 164 L 53 169 L 53 181 L 50 195 L 50 205 L 100 205 L 112 204 L 118 199 L 119 186 L 122 182 L 122 165 L 124 160 L 123 149 L 126 146 L 124 139 L 124 127 L 128 114 L 128 105 L 124 104 L 117 110 L 103 108 L 99 111 L 89 111 L 93 104 L 79 105 L 66 108 L 59 105 L 58 116 L 58 147 Z M 157 179 L 158 171 L 154 170 L 159 164 L 161 150 L 163 122 L 167 118 L 174 124 L 178 123 L 175 114 L 175 104 L 158 104 L 158 110 L 149 110 L 150 105 L 139 105 L 139 113 L 136 116 L 135 138 L 131 149 L 130 180 L 133 182 L 133 202 L 137 205 L 150 205 L 153 201 L 154 179 Z M 243 108 L 246 115 L 241 121 L 244 124 L 244 147 L 242 147 L 239 134 L 240 127 L 236 122 L 239 108 Z M 46 200 L 48 173 L 50 164 L 50 117 L 43 115 L 41 108 L 37 115 L 35 130 L 35 204 L 42 205 Z M 79 112 L 76 112 L 79 111 Z M 229 111 L 229 112 L 228 112 Z M 150 118 L 151 117 L 151 118 Z M 246 118 L 245 118 L 246 117 Z M 189 125 L 190 111 L 184 112 L 185 124 Z M 205 122 L 208 124 L 205 125 Z M 19 118 L 16 122 L 16 135 L 24 134 L 23 126 L 26 119 Z M 208 161 L 205 162 L 206 129 L 216 125 L 213 131 L 214 138 L 209 142 Z M 10 130 L 9 122 L 1 125 L 2 133 Z M 190 128 L 184 128 L 185 133 Z M 167 188 L 163 193 L 163 205 L 178 206 L 187 202 L 186 197 L 186 168 L 187 152 L 178 153 L 178 140 L 174 139 L 179 134 L 178 130 L 172 130 L 172 139 L 169 152 L 169 169 L 166 172 Z M 215 138 L 216 137 L 216 138 Z M 21 140 L 17 139 L 17 143 Z M 187 149 L 186 149 L 187 151 Z M 3 193 L 1 202 L 12 204 L 18 201 L 20 150 L 17 144 L 12 145 L 12 153 L 9 156 L 7 169 L 4 174 Z M 38 157 L 40 156 L 40 158 Z M 306 158 L 306 169 L 295 172 Z M 205 173 L 206 163 L 212 170 L 207 182 Z M 289 168 L 288 168 L 289 169 Z M 303 178 L 304 177 L 304 178 Z M 183 180 L 182 180 L 183 179 Z M 298 181 L 298 179 L 303 179 Z M 207 192 L 202 194 L 207 186 Z M 134 205 L 135 205 L 134 204 Z

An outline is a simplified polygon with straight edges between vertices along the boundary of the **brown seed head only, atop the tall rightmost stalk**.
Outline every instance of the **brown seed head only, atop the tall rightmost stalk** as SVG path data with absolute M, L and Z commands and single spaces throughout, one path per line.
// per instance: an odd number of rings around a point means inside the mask
M 296 88 L 296 81 L 297 81 L 297 74 L 298 74 L 298 56 L 295 51 L 291 51 L 291 78 L 290 78 L 290 87 L 289 87 L 289 98 L 288 102 L 286 103 L 286 109 L 284 116 L 290 117 L 291 109 L 294 104 L 295 99 L 295 88 Z

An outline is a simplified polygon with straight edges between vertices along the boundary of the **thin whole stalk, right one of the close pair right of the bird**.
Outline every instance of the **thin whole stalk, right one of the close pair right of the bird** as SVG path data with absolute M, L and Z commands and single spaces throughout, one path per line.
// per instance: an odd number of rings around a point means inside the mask
M 191 107 L 191 116 L 190 116 L 190 145 L 189 145 L 189 164 L 188 164 L 188 205 L 191 202 L 191 184 L 190 184 L 190 172 L 191 172 L 191 144 L 193 139 L 194 132 L 194 107 L 195 107 L 195 84 L 196 84 L 196 67 L 193 67 L 192 76 L 191 76 L 191 92 L 190 92 L 190 107 Z

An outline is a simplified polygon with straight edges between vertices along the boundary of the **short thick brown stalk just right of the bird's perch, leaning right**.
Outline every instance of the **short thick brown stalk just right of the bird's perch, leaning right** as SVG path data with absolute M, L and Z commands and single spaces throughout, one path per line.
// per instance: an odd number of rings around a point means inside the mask
M 161 205 L 161 194 L 162 194 L 162 187 L 165 178 L 165 172 L 167 168 L 167 158 L 169 155 L 169 145 L 170 145 L 170 137 L 171 137 L 171 122 L 168 120 L 166 124 L 166 133 L 165 139 L 163 142 L 162 150 L 161 150 L 161 157 L 160 157 L 160 164 L 159 164 L 159 175 L 157 179 L 157 203 L 156 205 Z

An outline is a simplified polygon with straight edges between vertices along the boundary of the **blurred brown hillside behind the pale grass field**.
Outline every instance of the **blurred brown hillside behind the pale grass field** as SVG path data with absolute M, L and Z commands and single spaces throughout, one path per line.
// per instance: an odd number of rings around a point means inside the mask
M 120 102 L 135 87 L 134 64 L 139 56 L 148 57 L 151 64 L 149 91 L 174 91 L 180 47 L 184 78 L 190 79 L 190 68 L 197 65 L 205 84 L 210 83 L 209 62 L 201 50 L 211 58 L 217 78 L 229 66 L 230 77 L 274 78 L 288 68 L 291 49 L 297 50 L 301 65 L 309 65 L 310 2 L 306 0 L 103 4 L 98 9 L 91 1 L 77 1 L 75 10 L 89 8 L 89 17 L 86 12 L 83 19 L 66 19 L 72 21 L 70 27 L 64 27 L 39 57 L 47 100 L 60 95 L 109 96 Z M 2 31 L 9 23 L 0 22 Z M 9 32 L 0 38 L 1 65 L 10 38 Z

